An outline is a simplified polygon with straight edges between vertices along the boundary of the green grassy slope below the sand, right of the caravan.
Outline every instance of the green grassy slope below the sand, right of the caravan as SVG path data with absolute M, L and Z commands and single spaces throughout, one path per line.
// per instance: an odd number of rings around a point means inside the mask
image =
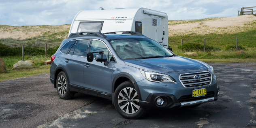
M 256 29 L 250 30 L 247 32 L 239 32 L 234 34 L 205 34 L 205 35 L 197 35 L 197 34 L 187 34 L 187 35 L 179 35 L 179 36 L 169 36 L 168 42 L 170 47 L 177 47 L 181 45 L 181 39 L 183 39 L 184 43 L 204 43 L 204 38 L 206 39 L 206 44 L 219 47 L 224 49 L 226 45 L 236 45 L 236 38 L 238 38 L 238 45 L 242 47 L 256 47 Z

